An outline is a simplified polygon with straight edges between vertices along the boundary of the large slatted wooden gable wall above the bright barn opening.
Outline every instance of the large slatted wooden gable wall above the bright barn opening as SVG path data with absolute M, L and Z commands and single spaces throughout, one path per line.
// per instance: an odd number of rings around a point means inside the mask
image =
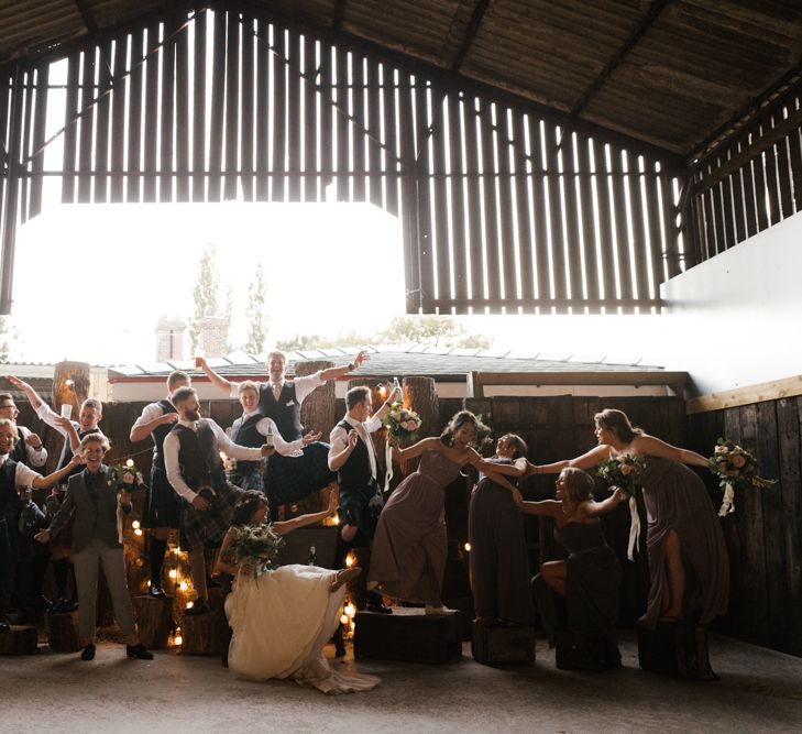
M 174 13 L 70 55 L 64 201 L 318 201 L 333 180 L 337 200 L 400 215 L 408 310 L 659 306 L 684 266 L 660 161 L 251 12 Z M 798 100 L 773 114 L 743 150 Z M 683 212 L 703 258 L 799 208 L 799 131 L 707 186 L 741 147 L 705 162 Z

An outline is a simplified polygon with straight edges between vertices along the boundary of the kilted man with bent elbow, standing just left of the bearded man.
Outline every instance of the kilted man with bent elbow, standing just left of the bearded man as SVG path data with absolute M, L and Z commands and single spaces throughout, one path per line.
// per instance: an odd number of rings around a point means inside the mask
M 164 596 L 162 587 L 162 567 L 167 552 L 167 538 L 173 528 L 178 527 L 180 503 L 178 495 L 167 481 L 164 468 L 163 445 L 171 428 L 178 419 L 178 413 L 172 402 L 172 395 L 180 387 L 189 387 L 189 375 L 175 370 L 167 376 L 167 396 L 156 403 L 146 405 L 142 415 L 131 427 L 129 438 L 132 442 L 144 441 L 149 436 L 153 441 L 153 462 L 151 464 L 151 483 L 147 487 L 142 524 L 150 530 L 151 561 L 151 596 Z

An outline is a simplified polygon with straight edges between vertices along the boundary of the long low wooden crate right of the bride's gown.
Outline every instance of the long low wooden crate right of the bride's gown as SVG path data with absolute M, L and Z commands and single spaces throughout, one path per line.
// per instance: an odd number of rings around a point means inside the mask
M 424 614 L 422 609 L 393 607 L 393 614 L 356 612 L 356 658 L 447 662 L 462 655 L 460 613 Z

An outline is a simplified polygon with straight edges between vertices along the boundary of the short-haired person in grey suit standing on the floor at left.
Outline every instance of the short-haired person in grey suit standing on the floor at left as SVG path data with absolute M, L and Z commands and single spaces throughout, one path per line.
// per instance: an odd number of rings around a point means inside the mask
M 109 482 L 109 468 L 103 457 L 109 450 L 109 439 L 102 434 L 88 434 L 80 441 L 86 469 L 69 478 L 67 496 L 50 527 L 35 537 L 48 543 L 73 517 L 73 558 L 78 582 L 78 627 L 86 647 L 81 660 L 95 657 L 97 624 L 98 561 L 111 592 L 114 616 L 120 632 L 128 637 L 125 653 L 140 660 L 152 660 L 153 655 L 140 643 L 133 621 L 131 596 L 125 581 L 125 559 L 122 550 L 122 530 L 118 527 L 118 505 L 123 513 L 131 512 L 131 494 L 119 492 Z

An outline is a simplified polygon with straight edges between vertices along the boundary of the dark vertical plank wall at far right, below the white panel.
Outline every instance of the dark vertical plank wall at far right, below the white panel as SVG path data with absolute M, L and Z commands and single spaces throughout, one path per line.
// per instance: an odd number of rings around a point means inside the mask
M 729 634 L 802 655 L 802 397 L 700 413 L 690 448 L 710 456 L 719 436 L 755 451 L 773 486 L 739 492 L 723 518 L 730 562 Z M 716 482 L 711 492 L 721 496 Z

